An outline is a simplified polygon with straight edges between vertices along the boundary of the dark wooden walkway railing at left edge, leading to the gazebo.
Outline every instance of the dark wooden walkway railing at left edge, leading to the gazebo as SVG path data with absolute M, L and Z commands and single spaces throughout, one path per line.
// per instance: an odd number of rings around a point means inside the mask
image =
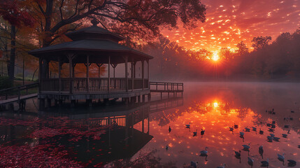
M 20 100 L 21 96 L 37 93 L 38 92 L 38 83 L 32 83 L 29 85 L 22 85 L 18 87 L 10 87 L 8 89 L 0 90 L 1 100 L 16 98 Z

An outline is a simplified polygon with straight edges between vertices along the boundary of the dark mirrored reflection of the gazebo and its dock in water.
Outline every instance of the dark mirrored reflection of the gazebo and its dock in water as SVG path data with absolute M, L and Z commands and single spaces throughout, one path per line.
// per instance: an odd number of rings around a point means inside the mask
M 106 134 L 101 135 L 101 143 L 91 140 L 83 146 L 75 147 L 74 150 L 78 150 L 76 157 L 82 161 L 95 158 L 97 162 L 130 159 L 153 138 L 150 135 L 150 113 L 181 105 L 183 105 L 183 98 L 176 98 L 154 101 L 141 104 L 141 106 L 131 106 L 123 111 L 107 109 L 107 111 L 101 113 L 76 114 L 72 112 L 68 117 L 72 119 L 74 127 L 80 127 L 80 125 L 89 125 L 89 127 L 113 125 L 112 129 L 108 129 Z M 141 130 L 134 128 L 137 123 L 141 123 Z M 99 148 L 101 151 L 98 150 Z M 90 152 L 80 153 L 80 151 Z

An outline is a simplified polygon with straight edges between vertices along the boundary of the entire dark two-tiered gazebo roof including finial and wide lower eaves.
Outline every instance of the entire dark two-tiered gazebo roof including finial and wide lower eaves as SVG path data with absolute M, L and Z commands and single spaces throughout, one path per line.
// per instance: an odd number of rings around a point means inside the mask
M 55 55 L 64 55 L 66 52 L 74 52 L 78 55 L 92 55 L 101 57 L 110 55 L 112 58 L 120 59 L 122 55 L 129 55 L 136 60 L 152 59 L 147 55 L 133 48 L 121 45 L 118 41 L 124 39 L 122 36 L 114 34 L 106 29 L 97 27 L 97 21 L 92 20 L 93 26 L 67 33 L 73 41 L 50 45 L 44 48 L 29 51 L 35 57 L 45 57 L 52 59 Z M 115 61 L 120 62 L 120 61 Z

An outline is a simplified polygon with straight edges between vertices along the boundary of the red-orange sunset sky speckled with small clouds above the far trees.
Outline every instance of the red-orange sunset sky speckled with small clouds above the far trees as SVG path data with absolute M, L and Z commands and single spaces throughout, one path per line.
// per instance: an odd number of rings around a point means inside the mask
M 300 0 L 202 0 L 206 22 L 195 29 L 164 29 L 162 34 L 187 49 L 210 51 L 235 48 L 244 41 L 251 48 L 255 36 L 271 36 L 300 27 Z

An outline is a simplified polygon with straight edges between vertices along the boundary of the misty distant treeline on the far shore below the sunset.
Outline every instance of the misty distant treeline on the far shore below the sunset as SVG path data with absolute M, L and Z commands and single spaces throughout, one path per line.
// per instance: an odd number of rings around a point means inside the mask
M 237 50 L 222 48 L 216 62 L 213 52 L 186 50 L 163 36 L 142 50 L 155 57 L 150 62 L 154 80 L 299 80 L 300 29 L 270 41 L 271 36 L 253 38 L 251 52 L 243 41 Z

